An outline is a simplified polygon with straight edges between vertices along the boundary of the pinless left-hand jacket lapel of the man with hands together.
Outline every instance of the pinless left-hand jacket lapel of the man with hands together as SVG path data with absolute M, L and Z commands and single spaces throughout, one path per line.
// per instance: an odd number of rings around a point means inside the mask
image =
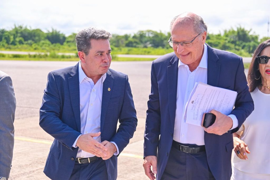
M 68 78 L 70 101 L 75 116 L 77 131 L 81 130 L 81 116 L 80 116 L 80 86 L 79 86 L 79 63 L 77 63 L 70 71 Z

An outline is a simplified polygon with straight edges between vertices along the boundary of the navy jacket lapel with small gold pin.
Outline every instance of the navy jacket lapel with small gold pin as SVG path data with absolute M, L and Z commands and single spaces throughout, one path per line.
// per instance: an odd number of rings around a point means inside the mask
M 110 98 L 113 90 L 113 77 L 110 70 L 107 71 L 106 79 L 103 82 L 102 102 L 101 102 L 101 114 L 100 114 L 100 131 L 102 132 L 106 117 L 107 108 L 110 102 Z M 110 88 L 110 89 L 109 89 Z

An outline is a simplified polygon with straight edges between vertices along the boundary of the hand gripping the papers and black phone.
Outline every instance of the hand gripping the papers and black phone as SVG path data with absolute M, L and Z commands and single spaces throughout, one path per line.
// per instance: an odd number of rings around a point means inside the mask
M 216 110 L 211 110 L 210 113 L 216 115 L 216 120 L 214 124 L 208 128 L 204 128 L 204 130 L 208 133 L 216 134 L 216 135 L 223 135 L 224 133 L 228 132 L 232 128 L 232 119 L 221 112 Z M 204 115 L 203 115 L 204 119 Z M 201 123 L 203 126 L 203 120 Z

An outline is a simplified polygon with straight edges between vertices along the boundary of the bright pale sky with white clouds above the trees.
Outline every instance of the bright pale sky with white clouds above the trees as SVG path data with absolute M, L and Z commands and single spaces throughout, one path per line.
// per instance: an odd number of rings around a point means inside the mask
M 200 15 L 210 33 L 241 25 L 260 37 L 268 35 L 269 0 L 0 0 L 0 28 L 10 30 L 14 24 L 45 32 L 55 28 L 66 35 L 89 26 L 116 34 L 147 29 L 168 32 L 171 19 L 185 11 Z

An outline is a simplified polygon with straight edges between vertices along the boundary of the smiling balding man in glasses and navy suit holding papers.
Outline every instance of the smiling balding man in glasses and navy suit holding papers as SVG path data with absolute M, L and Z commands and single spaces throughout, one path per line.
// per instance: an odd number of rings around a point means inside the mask
M 171 22 L 168 43 L 174 53 L 152 63 L 144 133 L 144 170 L 149 179 L 229 180 L 232 133 L 254 109 L 242 58 L 205 43 L 207 26 L 191 12 Z M 208 128 L 184 122 L 184 109 L 196 82 L 237 91 L 226 116 L 216 110 Z M 151 170 L 151 166 L 153 169 Z

